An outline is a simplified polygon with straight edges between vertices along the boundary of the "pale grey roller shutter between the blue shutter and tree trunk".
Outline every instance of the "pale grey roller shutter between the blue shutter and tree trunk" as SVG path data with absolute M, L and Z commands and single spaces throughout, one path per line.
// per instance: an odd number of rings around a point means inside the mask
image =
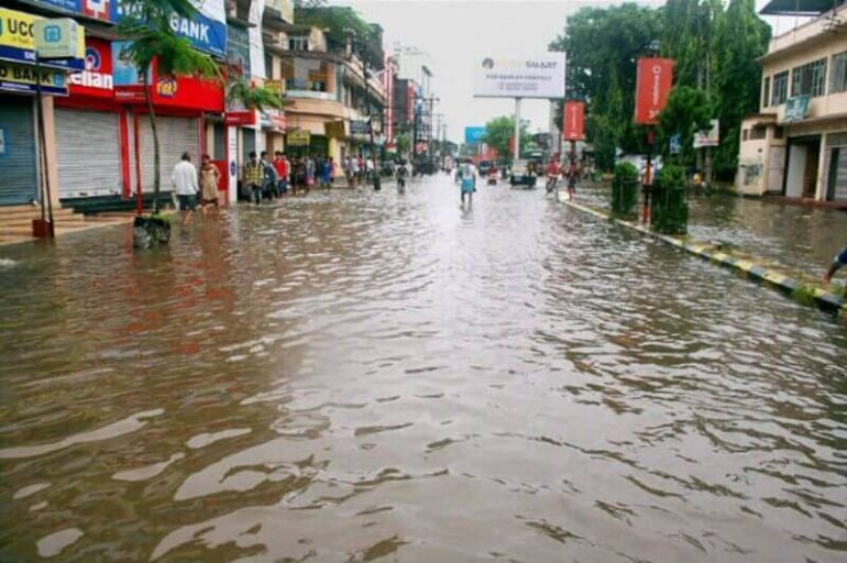
M 56 109 L 61 198 L 121 192 L 118 113 Z

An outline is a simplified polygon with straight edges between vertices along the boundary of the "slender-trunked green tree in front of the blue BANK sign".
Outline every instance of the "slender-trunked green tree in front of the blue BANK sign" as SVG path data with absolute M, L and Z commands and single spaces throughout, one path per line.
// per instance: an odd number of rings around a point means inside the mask
M 127 55 L 139 69 L 144 100 L 153 132 L 153 214 L 158 213 L 160 142 L 156 113 L 150 97 L 150 71 L 156 62 L 158 76 L 199 76 L 220 79 L 220 69 L 212 58 L 195 49 L 185 37 L 170 27 L 174 16 L 193 18 L 197 9 L 190 0 L 124 0 L 121 4 L 129 15 L 118 23 L 118 34 L 132 42 Z

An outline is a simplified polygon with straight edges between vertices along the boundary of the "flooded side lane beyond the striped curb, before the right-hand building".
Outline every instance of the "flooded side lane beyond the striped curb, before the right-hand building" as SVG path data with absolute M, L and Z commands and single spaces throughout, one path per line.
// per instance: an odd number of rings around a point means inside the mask
M 585 203 L 609 207 L 607 186 L 585 186 Z M 640 201 L 640 200 L 639 200 Z M 728 195 L 690 199 L 689 235 L 715 241 L 820 280 L 847 244 L 847 211 Z

